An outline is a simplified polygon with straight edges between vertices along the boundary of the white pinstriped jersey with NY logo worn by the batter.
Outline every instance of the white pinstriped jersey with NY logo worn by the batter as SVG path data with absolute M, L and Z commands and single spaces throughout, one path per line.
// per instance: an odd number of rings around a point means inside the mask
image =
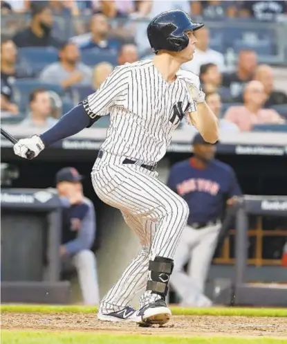
M 198 76 L 183 70 L 176 75 L 166 82 L 152 60 L 115 68 L 84 102 L 91 118 L 110 114 L 102 150 L 149 164 L 163 158 L 180 120 L 196 111 L 187 82 L 199 87 Z

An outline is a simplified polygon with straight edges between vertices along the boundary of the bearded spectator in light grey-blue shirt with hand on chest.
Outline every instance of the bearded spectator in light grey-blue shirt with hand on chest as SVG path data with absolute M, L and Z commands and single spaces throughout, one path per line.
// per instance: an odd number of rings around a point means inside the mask
M 73 42 L 66 42 L 59 49 L 59 62 L 46 66 L 39 78 L 68 89 L 75 84 L 91 86 L 92 73 L 89 66 L 80 62 L 79 48 Z

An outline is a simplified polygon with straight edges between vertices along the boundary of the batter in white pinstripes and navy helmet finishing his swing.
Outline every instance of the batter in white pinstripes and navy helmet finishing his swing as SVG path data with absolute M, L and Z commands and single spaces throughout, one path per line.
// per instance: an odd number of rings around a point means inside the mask
M 172 132 L 183 117 L 205 141 L 218 140 L 216 116 L 205 103 L 198 76 L 180 69 L 192 60 L 194 31 L 203 26 L 181 10 L 161 13 L 147 27 L 154 60 L 118 66 L 98 91 L 54 127 L 14 146 L 15 154 L 23 158 L 27 150 L 37 156 L 110 114 L 107 138 L 91 179 L 98 197 L 122 212 L 142 249 L 102 299 L 100 320 L 162 325 L 171 317 L 165 298 L 189 209 L 182 197 L 158 180 L 156 163 L 165 156 Z M 136 310 L 129 302 L 143 287 Z

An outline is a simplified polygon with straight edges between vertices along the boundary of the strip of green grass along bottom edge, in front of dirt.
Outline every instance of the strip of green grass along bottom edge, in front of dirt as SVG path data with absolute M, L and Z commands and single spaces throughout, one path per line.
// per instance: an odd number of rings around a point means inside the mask
M 91 332 L 1 331 L 3 344 L 286 344 L 287 339 L 240 337 L 176 337 L 93 334 Z

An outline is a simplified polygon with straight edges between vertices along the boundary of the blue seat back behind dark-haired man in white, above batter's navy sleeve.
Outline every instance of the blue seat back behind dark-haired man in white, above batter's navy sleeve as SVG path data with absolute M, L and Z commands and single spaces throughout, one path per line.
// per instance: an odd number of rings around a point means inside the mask
M 30 93 L 35 89 L 46 89 L 47 91 L 53 91 L 58 96 L 64 96 L 64 89 L 59 84 L 49 84 L 47 82 L 41 82 L 36 79 L 19 79 L 15 81 L 13 85 L 13 91 L 15 93 L 15 101 L 20 107 L 21 111 L 26 111 Z

